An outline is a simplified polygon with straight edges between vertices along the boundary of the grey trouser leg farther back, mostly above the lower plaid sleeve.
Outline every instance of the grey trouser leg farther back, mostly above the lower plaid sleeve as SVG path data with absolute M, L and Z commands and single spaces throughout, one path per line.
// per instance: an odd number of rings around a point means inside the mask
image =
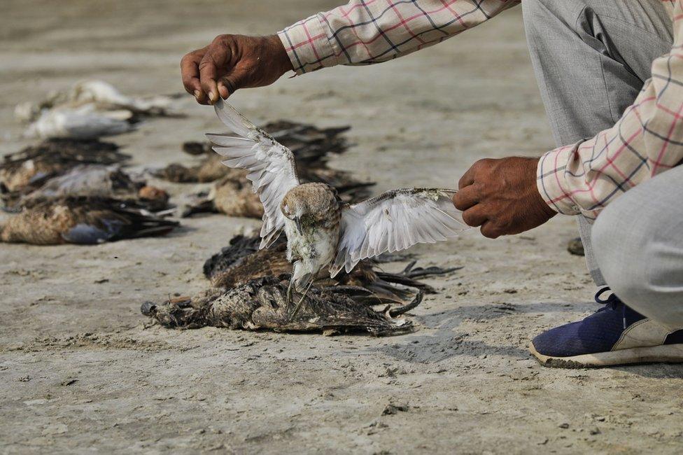
M 531 61 L 557 146 L 612 127 L 673 42 L 660 1 L 523 0 Z M 579 218 L 586 263 L 605 284 L 591 244 L 591 224 Z

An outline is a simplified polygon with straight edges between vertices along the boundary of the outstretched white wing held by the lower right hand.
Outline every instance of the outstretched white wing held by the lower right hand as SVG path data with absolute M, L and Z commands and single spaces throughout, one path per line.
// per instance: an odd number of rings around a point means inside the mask
M 391 190 L 346 206 L 342 233 L 330 275 L 346 272 L 360 261 L 419 243 L 433 244 L 456 237 L 467 229 L 462 213 L 453 206 L 455 190 L 407 188 Z

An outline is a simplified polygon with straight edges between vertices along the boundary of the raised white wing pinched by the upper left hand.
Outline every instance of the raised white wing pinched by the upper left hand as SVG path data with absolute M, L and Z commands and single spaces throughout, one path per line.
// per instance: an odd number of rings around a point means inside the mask
M 299 185 L 294 155 L 230 104 L 219 99 L 215 108 L 218 118 L 239 137 L 225 134 L 206 134 L 206 137 L 213 142 L 213 151 L 227 158 L 224 165 L 249 172 L 246 178 L 253 183 L 254 193 L 263 204 L 260 248 L 270 246 L 285 225 L 280 203 L 289 190 Z

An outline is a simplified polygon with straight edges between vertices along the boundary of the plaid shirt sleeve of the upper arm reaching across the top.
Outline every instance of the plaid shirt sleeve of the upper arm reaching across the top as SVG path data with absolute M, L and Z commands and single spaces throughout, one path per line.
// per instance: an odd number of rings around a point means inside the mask
M 279 32 L 297 74 L 372 64 L 440 43 L 519 0 L 351 0 Z

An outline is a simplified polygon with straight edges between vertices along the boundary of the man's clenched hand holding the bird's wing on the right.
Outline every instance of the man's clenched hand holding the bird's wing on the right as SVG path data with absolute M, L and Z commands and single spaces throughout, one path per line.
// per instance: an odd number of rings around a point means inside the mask
M 456 209 L 484 237 L 519 234 L 556 215 L 536 188 L 537 158 L 479 160 L 458 182 Z

